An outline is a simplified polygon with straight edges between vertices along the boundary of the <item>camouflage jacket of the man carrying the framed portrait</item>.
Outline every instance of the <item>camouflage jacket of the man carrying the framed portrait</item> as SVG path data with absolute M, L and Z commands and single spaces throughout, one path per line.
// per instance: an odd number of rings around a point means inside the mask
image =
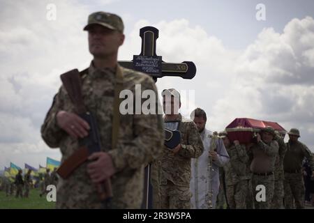
M 202 155 L 204 146 L 197 127 L 193 121 L 179 114 L 179 132 L 181 133 L 181 150 L 174 154 L 164 146 L 161 157 L 160 184 L 166 185 L 170 180 L 174 185 L 190 187 L 191 158 Z

